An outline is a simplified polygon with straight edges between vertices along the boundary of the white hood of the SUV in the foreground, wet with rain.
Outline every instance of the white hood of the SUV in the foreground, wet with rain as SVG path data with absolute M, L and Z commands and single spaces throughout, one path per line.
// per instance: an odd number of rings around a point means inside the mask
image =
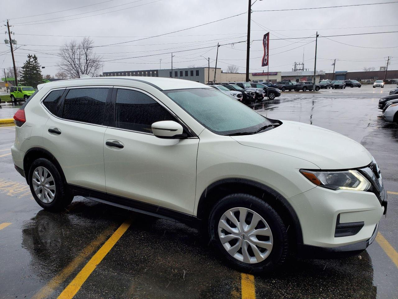
M 244 146 L 310 161 L 320 169 L 357 168 L 372 161 L 372 155 L 367 149 L 339 133 L 301 122 L 282 122 L 280 126 L 269 131 L 232 138 Z

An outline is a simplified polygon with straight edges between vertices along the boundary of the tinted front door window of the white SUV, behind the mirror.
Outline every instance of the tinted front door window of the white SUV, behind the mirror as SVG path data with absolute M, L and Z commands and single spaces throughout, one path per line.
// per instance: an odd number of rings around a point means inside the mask
M 118 89 L 116 95 L 115 126 L 128 130 L 152 133 L 151 126 L 161 120 L 176 118 L 150 96 L 128 89 Z

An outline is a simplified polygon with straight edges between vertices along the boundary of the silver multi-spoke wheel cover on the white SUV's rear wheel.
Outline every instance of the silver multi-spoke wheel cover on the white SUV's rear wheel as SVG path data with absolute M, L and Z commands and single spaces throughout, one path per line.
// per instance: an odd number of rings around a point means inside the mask
M 50 171 L 39 166 L 32 175 L 33 190 L 43 203 L 51 203 L 55 198 L 55 181 Z

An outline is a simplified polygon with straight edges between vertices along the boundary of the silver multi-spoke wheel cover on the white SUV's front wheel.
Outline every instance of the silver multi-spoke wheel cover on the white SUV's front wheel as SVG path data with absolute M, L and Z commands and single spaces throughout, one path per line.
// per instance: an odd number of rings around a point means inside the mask
M 272 250 L 269 225 L 257 212 L 247 208 L 232 208 L 222 214 L 218 234 L 226 252 L 240 262 L 262 262 Z

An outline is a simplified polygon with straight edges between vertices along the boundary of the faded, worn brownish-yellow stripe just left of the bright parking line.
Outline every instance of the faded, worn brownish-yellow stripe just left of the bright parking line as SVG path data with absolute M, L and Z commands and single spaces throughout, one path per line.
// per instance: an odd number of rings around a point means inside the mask
M 111 225 L 105 229 L 94 241 L 86 246 L 80 252 L 76 258 L 72 260 L 59 274 L 51 279 L 44 287 L 42 287 L 31 299 L 43 299 L 49 297 L 61 283 L 63 283 L 73 271 L 90 255 L 96 250 L 105 240 L 107 236 L 115 229 L 115 226 Z

